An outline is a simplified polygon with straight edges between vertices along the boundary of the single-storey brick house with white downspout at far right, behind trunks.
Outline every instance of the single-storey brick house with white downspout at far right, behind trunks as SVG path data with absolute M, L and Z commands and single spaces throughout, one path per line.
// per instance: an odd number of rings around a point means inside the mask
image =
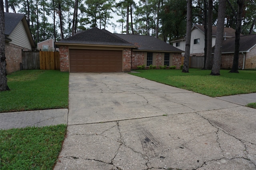
M 235 37 L 223 40 L 221 68 L 232 68 L 234 51 Z M 214 52 L 214 47 L 212 52 Z M 256 68 L 256 34 L 240 36 L 239 67 L 240 69 Z

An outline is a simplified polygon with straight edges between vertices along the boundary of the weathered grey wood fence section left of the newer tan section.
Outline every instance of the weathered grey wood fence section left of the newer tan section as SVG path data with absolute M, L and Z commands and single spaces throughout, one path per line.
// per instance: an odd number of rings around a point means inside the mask
M 40 69 L 40 55 L 35 51 L 22 52 L 22 66 L 23 70 L 39 70 Z

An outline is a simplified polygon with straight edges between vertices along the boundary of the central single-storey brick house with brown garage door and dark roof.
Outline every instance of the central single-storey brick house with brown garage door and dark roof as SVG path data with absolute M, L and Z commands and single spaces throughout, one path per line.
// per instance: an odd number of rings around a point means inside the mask
M 152 36 L 112 34 L 92 28 L 56 42 L 60 70 L 130 72 L 137 66 L 181 65 L 182 50 Z

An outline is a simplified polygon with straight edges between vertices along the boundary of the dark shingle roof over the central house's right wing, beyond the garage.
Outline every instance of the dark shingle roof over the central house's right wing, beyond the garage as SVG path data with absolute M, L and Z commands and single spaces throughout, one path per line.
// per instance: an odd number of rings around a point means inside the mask
M 167 44 L 166 42 L 155 38 L 153 36 L 142 36 L 132 34 L 116 34 L 120 38 L 134 44 L 138 47 L 138 50 L 148 51 L 171 51 L 171 52 L 183 52 L 182 50 Z

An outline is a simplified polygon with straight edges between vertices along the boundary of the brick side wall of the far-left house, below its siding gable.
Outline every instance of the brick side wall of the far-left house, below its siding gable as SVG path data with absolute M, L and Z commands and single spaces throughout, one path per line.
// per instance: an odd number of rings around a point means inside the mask
M 12 72 L 20 70 L 20 62 L 22 62 L 22 50 L 28 51 L 26 48 L 5 43 L 5 57 L 6 57 L 6 72 L 10 74 Z

